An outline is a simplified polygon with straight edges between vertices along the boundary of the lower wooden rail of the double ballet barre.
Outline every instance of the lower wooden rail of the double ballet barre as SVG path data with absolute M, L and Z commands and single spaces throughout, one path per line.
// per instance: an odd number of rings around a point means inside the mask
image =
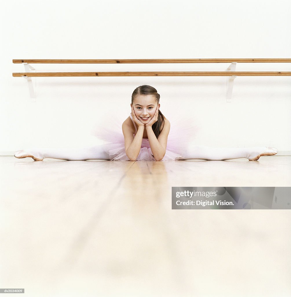
M 12 73 L 14 77 L 58 77 L 58 76 L 291 76 L 291 72 L 20 72 Z

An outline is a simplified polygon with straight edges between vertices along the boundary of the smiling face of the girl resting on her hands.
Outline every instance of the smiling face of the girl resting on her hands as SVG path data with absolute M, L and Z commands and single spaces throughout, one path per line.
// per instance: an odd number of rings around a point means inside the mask
M 160 108 L 157 100 L 153 95 L 136 95 L 133 100 L 133 110 L 137 118 L 144 124 L 147 124 L 155 115 L 156 108 Z

